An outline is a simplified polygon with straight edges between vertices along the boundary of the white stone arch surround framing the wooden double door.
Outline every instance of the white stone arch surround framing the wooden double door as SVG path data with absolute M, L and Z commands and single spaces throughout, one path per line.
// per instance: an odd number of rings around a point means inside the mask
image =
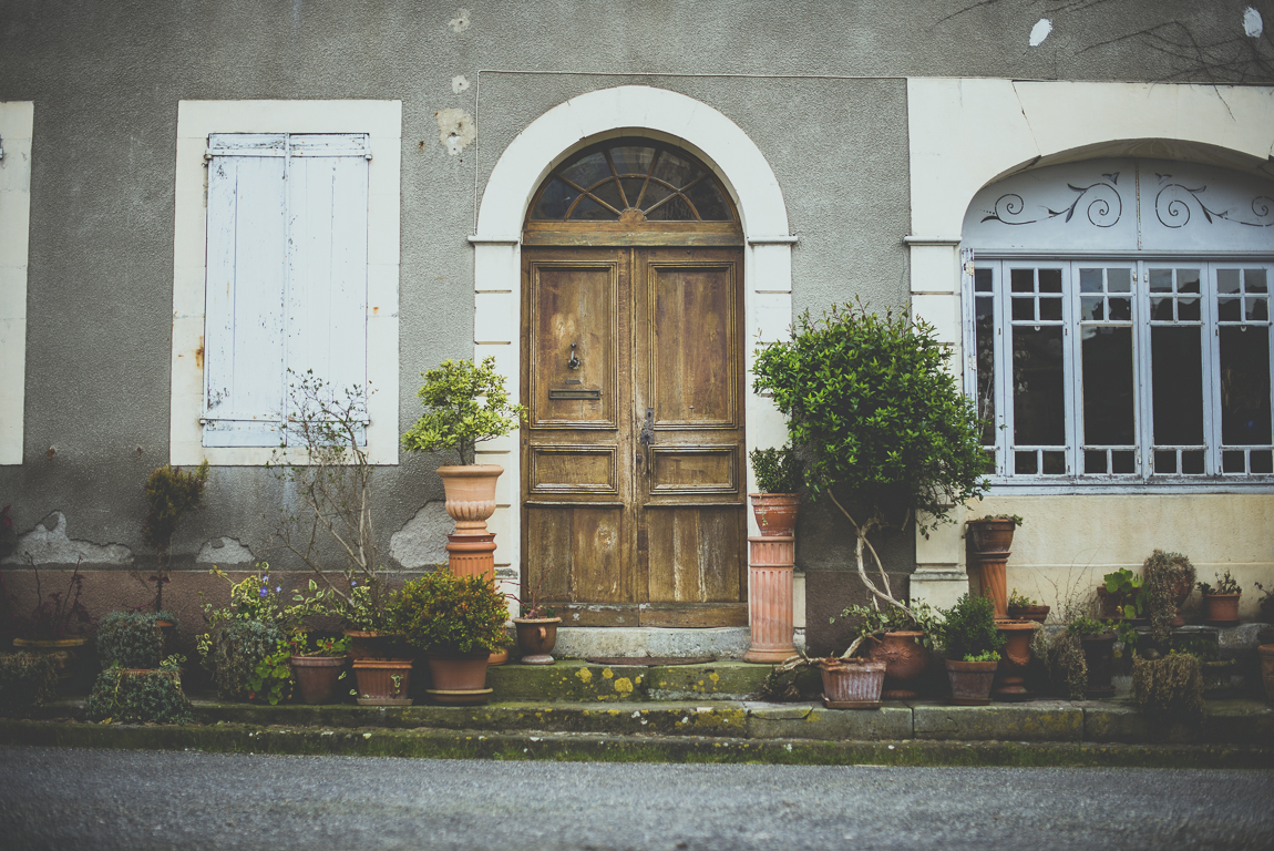
M 501 154 L 482 195 L 474 245 L 474 357 L 496 358 L 510 387 L 519 386 L 521 232 L 531 196 L 549 171 L 576 150 L 613 136 L 650 136 L 685 148 L 721 180 L 744 233 L 744 329 L 778 339 L 791 322 L 791 247 L 787 210 L 773 169 L 757 144 L 717 110 L 676 92 L 624 85 L 589 92 L 533 121 Z M 752 353 L 745 355 L 750 373 Z M 747 381 L 750 387 L 750 380 Z M 786 437 L 767 399 L 747 394 L 748 450 Z M 516 585 L 521 562 L 519 475 L 521 447 L 512 436 L 479 445 L 479 462 L 499 464 L 497 572 Z M 754 489 L 752 470 L 748 489 Z M 749 518 L 749 524 L 753 524 Z

